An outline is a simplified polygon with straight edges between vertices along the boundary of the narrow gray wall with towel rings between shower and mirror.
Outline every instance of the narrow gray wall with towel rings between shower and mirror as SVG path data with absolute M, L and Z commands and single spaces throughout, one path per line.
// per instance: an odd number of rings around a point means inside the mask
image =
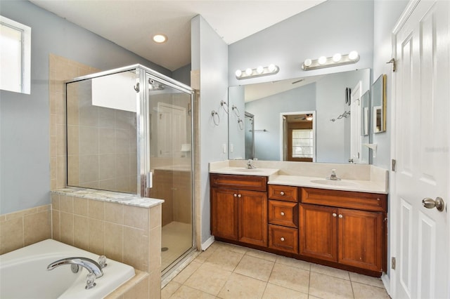
M 222 145 L 228 144 L 228 122 L 220 101 L 228 101 L 228 46 L 200 15 L 191 21 L 192 69 L 200 72 L 200 180 L 201 180 L 201 242 L 211 237 L 210 180 L 208 163 L 228 159 Z M 216 126 L 211 111 L 221 121 Z

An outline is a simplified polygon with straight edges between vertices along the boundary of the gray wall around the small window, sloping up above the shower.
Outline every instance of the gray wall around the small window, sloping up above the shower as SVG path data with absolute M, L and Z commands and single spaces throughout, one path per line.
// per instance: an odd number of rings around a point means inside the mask
M 32 28 L 31 94 L 0 91 L 0 213 L 50 203 L 49 53 L 98 69 L 141 63 L 112 42 L 28 1 L 1 1 L 1 15 Z

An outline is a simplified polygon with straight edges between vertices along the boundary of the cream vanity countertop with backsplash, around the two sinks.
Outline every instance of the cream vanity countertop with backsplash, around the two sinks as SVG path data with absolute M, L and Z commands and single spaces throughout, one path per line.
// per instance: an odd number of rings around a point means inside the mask
M 245 160 L 226 160 L 210 163 L 210 173 L 230 173 L 239 175 L 266 175 L 268 184 L 291 185 L 300 187 L 313 187 L 330 190 L 346 190 L 370 193 L 388 193 L 388 174 L 386 169 L 368 164 L 328 164 L 290 161 L 254 161 L 253 163 L 262 172 L 234 171 L 236 168 L 245 168 Z M 330 176 L 331 169 L 335 168 L 338 178 L 342 182 L 348 180 L 356 185 L 335 186 L 311 182 L 311 180 L 325 180 Z M 268 172 L 276 170 L 275 173 Z

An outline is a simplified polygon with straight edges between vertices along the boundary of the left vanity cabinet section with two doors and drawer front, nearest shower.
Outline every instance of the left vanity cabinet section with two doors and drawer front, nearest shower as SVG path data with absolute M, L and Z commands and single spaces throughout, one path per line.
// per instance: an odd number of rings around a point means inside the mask
M 210 181 L 214 237 L 266 247 L 267 178 L 211 174 Z

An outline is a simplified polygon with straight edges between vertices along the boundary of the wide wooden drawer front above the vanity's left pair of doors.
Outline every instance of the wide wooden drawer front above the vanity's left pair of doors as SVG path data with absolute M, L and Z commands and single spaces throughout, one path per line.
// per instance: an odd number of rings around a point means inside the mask
M 267 177 L 257 175 L 221 175 L 210 174 L 211 187 L 242 190 L 267 190 Z

